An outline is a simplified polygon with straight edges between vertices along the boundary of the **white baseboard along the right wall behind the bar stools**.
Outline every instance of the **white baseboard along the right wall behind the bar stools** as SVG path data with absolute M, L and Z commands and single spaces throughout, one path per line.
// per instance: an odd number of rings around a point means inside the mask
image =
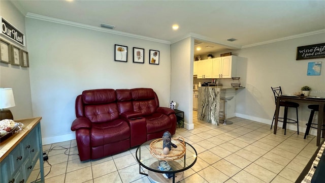
M 250 115 L 246 115 L 246 114 L 236 113 L 236 117 L 241 117 L 241 118 L 244 118 L 244 119 L 257 121 L 257 122 L 268 124 L 268 125 L 271 125 L 271 123 L 272 123 L 272 119 L 264 119 L 264 118 L 250 116 Z M 279 121 L 278 122 L 278 127 L 282 127 L 282 124 L 283 123 L 281 121 Z M 302 120 L 299 121 L 299 132 L 302 132 L 302 133 L 306 132 L 306 128 L 307 128 L 306 124 L 307 124 L 307 121 L 302 121 Z M 286 129 L 297 131 L 297 125 L 296 124 L 287 124 Z M 317 130 L 311 128 L 310 131 L 309 131 L 309 134 L 316 136 L 317 135 Z

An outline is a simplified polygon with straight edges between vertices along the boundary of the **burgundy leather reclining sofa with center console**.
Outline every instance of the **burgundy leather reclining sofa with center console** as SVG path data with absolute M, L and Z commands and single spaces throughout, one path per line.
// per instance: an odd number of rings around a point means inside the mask
M 71 130 L 81 161 L 99 159 L 176 131 L 175 111 L 159 107 L 151 88 L 85 90 Z

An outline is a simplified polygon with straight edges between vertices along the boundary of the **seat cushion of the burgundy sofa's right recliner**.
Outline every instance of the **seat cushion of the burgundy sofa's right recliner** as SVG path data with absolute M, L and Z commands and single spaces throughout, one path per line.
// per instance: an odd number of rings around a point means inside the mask
M 172 127 L 171 118 L 165 114 L 153 113 L 146 116 L 147 134 L 167 130 Z

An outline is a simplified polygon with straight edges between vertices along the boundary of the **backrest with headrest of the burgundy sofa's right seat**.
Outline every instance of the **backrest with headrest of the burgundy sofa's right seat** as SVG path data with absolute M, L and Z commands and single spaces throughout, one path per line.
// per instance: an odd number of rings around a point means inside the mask
M 131 89 L 134 111 L 142 115 L 150 115 L 159 107 L 157 96 L 151 88 Z

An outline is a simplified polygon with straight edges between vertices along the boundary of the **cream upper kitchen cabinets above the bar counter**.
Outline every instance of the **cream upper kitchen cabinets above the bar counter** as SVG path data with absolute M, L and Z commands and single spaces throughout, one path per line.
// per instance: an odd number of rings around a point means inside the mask
M 194 73 L 198 78 L 236 77 L 237 56 L 223 56 L 194 62 Z

